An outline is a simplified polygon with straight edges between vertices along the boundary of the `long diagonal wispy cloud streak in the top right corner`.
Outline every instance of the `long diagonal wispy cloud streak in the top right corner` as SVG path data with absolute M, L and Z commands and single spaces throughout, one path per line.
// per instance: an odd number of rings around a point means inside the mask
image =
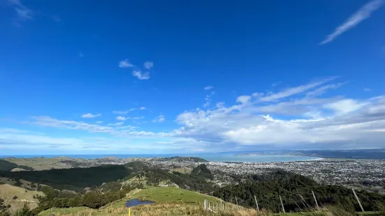
M 362 8 L 360 8 L 360 10 L 351 15 L 351 17 L 349 17 L 346 22 L 338 26 L 333 33 L 330 33 L 330 35 L 326 36 L 325 40 L 323 40 L 320 45 L 332 42 L 335 38 L 340 36 L 340 34 L 353 28 L 363 20 L 368 19 L 370 14 L 380 8 L 383 3 L 383 0 L 374 0 L 366 3 L 364 6 L 362 6 Z

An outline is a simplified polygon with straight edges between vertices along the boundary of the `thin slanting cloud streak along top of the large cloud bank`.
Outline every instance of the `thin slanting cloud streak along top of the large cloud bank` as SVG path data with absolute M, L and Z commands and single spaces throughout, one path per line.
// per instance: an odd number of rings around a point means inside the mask
M 323 79 L 319 82 L 312 82 L 310 84 L 305 84 L 303 86 L 297 86 L 297 87 L 293 87 L 293 88 L 286 88 L 284 91 L 279 91 L 278 93 L 273 93 L 273 94 L 270 94 L 270 95 L 266 95 L 264 97 L 261 97 L 259 98 L 259 100 L 261 101 L 264 101 L 264 102 L 268 102 L 268 101 L 275 101 L 275 100 L 279 100 L 279 99 L 282 99 L 282 98 L 286 98 L 286 97 L 289 97 L 291 95 L 296 95 L 298 93 L 303 93 L 305 91 L 309 91 L 310 89 L 312 88 L 315 88 L 317 86 L 321 86 L 322 84 L 326 83 L 326 82 L 329 82 L 333 79 L 335 79 L 336 77 L 330 77 L 330 78 L 327 78 L 327 79 Z

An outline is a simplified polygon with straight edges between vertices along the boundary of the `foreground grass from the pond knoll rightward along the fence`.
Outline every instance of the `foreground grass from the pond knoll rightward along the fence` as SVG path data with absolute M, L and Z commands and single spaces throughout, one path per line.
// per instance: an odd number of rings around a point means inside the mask
M 312 213 L 267 213 L 257 212 L 253 209 L 246 209 L 239 206 L 235 206 L 232 203 L 224 203 L 220 199 L 205 194 L 199 194 L 189 190 L 183 190 L 177 187 L 152 187 L 145 190 L 133 190 L 127 194 L 126 198 L 114 203 L 110 203 L 107 206 L 103 206 L 99 209 L 91 209 L 86 207 L 79 208 L 61 208 L 54 209 L 55 216 L 123 216 L 128 215 L 128 208 L 125 207 L 125 203 L 129 199 L 140 199 L 147 201 L 154 201 L 154 204 L 147 204 L 141 206 L 135 206 L 131 208 L 131 215 L 136 216 L 177 216 L 177 215 L 223 215 L 223 216 L 351 216 L 329 213 L 328 210 L 320 210 Z M 210 201 L 210 210 L 203 210 L 203 201 L 207 199 Z M 226 210 L 220 208 L 221 203 L 224 203 Z M 50 215 L 51 210 L 46 210 L 39 216 Z M 365 215 L 373 215 L 374 213 L 366 213 Z M 359 214 L 357 214 L 359 215 Z M 377 214 L 378 215 L 378 214 Z

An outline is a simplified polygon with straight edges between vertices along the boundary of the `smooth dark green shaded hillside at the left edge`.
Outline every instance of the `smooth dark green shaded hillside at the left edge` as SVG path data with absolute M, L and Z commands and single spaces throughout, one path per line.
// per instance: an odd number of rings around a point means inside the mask
M 123 165 L 103 165 L 100 167 L 50 169 L 43 171 L 0 171 L 0 176 L 24 179 L 34 183 L 50 185 L 59 190 L 81 191 L 110 181 L 124 178 L 132 172 Z

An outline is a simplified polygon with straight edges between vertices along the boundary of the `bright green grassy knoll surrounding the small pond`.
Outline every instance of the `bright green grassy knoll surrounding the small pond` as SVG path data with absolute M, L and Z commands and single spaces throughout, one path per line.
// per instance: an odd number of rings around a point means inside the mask
M 127 215 L 127 208 L 124 204 L 129 199 L 150 200 L 156 202 L 151 205 L 135 206 L 131 208 L 131 215 L 210 215 L 207 211 L 203 211 L 203 201 L 207 199 L 211 206 L 220 206 L 221 200 L 213 196 L 199 194 L 189 190 L 183 190 L 177 187 L 152 187 L 145 190 L 135 190 L 127 194 L 126 199 L 121 199 L 107 206 L 103 206 L 99 210 L 90 208 L 62 208 L 54 209 L 55 215 Z M 212 204 L 214 203 L 214 204 Z M 233 206 L 227 203 L 227 206 Z M 245 215 L 255 214 L 253 210 L 243 210 Z M 50 210 L 42 212 L 41 216 L 47 216 Z

